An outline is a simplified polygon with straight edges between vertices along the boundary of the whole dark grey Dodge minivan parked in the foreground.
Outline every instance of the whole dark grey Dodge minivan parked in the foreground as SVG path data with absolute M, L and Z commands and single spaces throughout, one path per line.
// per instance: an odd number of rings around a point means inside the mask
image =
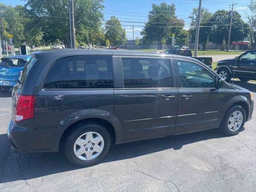
M 79 166 L 111 144 L 213 128 L 232 136 L 253 112 L 252 93 L 194 58 L 116 50 L 34 52 L 12 99 L 12 148 L 63 150 Z

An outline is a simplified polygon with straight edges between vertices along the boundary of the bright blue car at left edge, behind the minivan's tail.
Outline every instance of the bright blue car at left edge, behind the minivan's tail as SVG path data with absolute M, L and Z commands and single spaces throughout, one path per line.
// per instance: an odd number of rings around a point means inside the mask
M 12 88 L 31 55 L 11 55 L 2 57 L 0 62 L 0 92 L 8 92 Z

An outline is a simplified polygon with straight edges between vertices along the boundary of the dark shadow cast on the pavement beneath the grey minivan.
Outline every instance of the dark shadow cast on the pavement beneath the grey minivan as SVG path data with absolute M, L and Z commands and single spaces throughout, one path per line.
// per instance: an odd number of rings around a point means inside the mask
M 163 150 L 170 150 L 171 153 L 171 149 L 179 150 L 187 144 L 222 137 L 225 136 L 214 129 L 112 145 L 110 152 L 98 166 L 108 162 L 136 158 Z M 19 154 L 10 148 L 6 134 L 0 135 L 0 141 L 0 183 L 28 180 L 60 172 L 83 169 L 68 162 L 62 152 Z

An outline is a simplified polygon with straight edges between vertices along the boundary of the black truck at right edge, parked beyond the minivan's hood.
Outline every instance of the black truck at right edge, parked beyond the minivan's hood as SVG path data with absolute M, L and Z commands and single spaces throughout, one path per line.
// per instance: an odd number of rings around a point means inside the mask
M 227 82 L 232 77 L 244 82 L 256 80 L 256 50 L 244 52 L 234 59 L 218 61 L 214 70 Z

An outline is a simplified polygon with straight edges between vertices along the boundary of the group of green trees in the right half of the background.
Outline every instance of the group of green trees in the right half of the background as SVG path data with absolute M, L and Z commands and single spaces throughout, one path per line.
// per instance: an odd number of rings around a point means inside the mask
M 251 0 L 248 5 L 250 13 L 247 12 L 248 22 L 242 20 L 242 16 L 237 12 L 233 12 L 232 28 L 230 42 L 239 40 L 249 40 L 252 48 L 256 44 L 256 0 Z M 158 49 L 162 49 L 165 42 L 172 44 L 172 33 L 175 34 L 176 44 L 188 45 L 189 39 L 195 40 L 196 21 L 198 8 L 193 8 L 188 18 L 191 19 L 190 28 L 185 30 L 185 22 L 182 18 L 178 18 L 175 14 L 175 4 L 167 4 L 165 2 L 152 4 L 152 10 L 148 14 L 148 22 L 145 24 L 141 35 L 142 41 L 148 45 L 157 43 Z M 222 44 L 228 40 L 228 30 L 231 19 L 231 11 L 218 10 L 211 13 L 207 8 L 202 8 L 200 18 L 199 43 L 206 48 L 209 42 Z

